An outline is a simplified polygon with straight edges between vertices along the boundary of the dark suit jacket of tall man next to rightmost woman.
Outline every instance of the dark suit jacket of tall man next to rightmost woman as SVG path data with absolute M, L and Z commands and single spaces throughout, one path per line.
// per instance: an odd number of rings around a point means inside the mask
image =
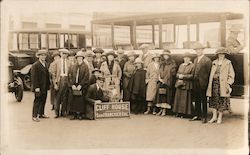
M 197 88 L 197 84 L 199 85 L 198 87 L 200 89 L 207 89 L 208 86 L 208 79 L 209 79 L 209 73 L 211 70 L 212 66 L 212 61 L 207 57 L 203 56 L 199 63 L 197 62 L 198 58 L 194 59 L 194 86 Z

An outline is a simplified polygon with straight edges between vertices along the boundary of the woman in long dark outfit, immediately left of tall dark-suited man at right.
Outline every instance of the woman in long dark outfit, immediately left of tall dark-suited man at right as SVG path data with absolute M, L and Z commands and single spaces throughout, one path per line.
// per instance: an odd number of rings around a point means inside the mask
M 192 115 L 192 78 L 194 64 L 191 61 L 191 54 L 184 53 L 184 63 L 179 66 L 176 77 L 176 92 L 174 99 L 173 111 L 176 116 L 191 116 Z

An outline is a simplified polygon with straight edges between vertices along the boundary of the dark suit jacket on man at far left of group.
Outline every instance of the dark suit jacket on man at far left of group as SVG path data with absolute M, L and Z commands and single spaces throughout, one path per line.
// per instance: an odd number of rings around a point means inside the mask
M 45 67 L 38 60 L 31 67 L 31 88 L 34 92 L 36 88 L 40 88 L 41 92 L 47 92 L 50 87 L 50 78 L 48 65 Z

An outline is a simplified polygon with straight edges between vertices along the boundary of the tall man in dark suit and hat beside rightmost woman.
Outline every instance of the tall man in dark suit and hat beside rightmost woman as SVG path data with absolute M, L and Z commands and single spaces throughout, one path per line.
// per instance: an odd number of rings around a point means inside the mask
M 191 119 L 202 119 L 202 123 L 207 122 L 207 97 L 209 74 L 212 67 L 211 60 L 203 54 L 203 47 L 200 43 L 195 45 L 197 58 L 194 60 L 193 97 L 195 101 L 194 117 Z

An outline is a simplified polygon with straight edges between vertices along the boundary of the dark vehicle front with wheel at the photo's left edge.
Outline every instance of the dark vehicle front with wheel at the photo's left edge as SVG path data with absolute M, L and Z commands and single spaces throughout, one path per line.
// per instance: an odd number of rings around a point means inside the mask
M 13 64 L 9 62 L 9 83 L 8 91 L 15 94 L 17 102 L 23 99 L 23 81 L 20 77 L 20 70 L 13 70 Z

